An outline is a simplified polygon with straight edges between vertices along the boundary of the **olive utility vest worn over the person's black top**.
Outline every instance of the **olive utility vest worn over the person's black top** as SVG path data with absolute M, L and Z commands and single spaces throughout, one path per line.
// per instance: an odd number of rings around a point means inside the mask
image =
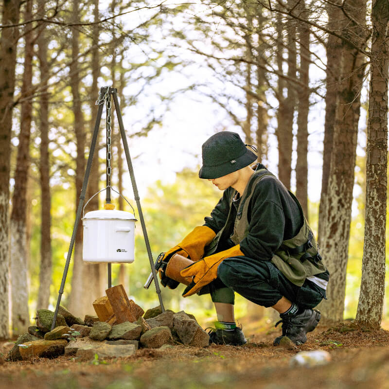
M 254 193 L 254 188 L 266 176 L 273 176 L 266 169 L 260 169 L 250 177 L 246 186 L 245 192 L 239 203 L 238 212 L 233 220 L 233 197 L 235 191 L 232 191 L 230 198 L 230 212 L 227 216 L 227 221 L 223 228 L 216 234 L 212 242 L 206 247 L 204 256 L 212 255 L 218 251 L 220 243 L 229 238 L 235 245 L 238 245 L 248 235 L 248 205 Z M 301 214 L 302 208 L 299 200 L 293 193 L 288 191 L 298 205 Z M 326 270 L 325 265 L 321 261 L 321 256 L 318 253 L 318 245 L 315 237 L 305 217 L 303 217 L 303 225 L 296 236 L 291 239 L 284 240 L 281 246 L 275 251 L 271 262 L 283 273 L 283 275 L 297 286 L 301 286 L 306 277 L 314 276 Z M 231 230 L 233 224 L 233 233 L 231 236 L 226 236 Z M 259 258 L 260 260 L 260 258 Z

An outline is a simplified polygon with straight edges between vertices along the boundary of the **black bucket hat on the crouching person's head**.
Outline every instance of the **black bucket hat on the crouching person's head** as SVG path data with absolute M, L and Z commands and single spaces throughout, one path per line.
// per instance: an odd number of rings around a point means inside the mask
M 248 166 L 257 159 L 240 138 L 230 131 L 212 135 L 202 146 L 203 166 L 200 178 L 219 178 Z

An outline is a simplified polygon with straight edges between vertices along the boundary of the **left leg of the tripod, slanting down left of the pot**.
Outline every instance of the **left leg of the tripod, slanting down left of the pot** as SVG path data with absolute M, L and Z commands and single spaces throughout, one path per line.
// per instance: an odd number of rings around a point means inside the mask
M 54 311 L 54 318 L 53 318 L 53 323 L 52 323 L 52 327 L 51 327 L 52 330 L 54 329 L 55 322 L 57 320 L 59 304 L 61 302 L 61 297 L 62 297 L 62 294 L 64 292 L 66 276 L 68 275 L 68 270 L 69 270 L 69 265 L 70 265 L 70 260 L 71 260 L 71 252 L 73 251 L 73 246 L 74 246 L 74 241 L 76 239 L 78 224 L 79 224 L 80 218 L 81 218 L 82 207 L 84 205 L 85 193 L 87 191 L 87 185 L 88 185 L 90 168 L 92 166 L 93 154 L 94 154 L 94 150 L 95 150 L 95 147 L 96 147 L 97 134 L 99 133 L 100 120 L 101 120 L 101 115 L 102 115 L 102 112 L 103 112 L 103 106 L 104 105 L 100 105 L 99 106 L 99 110 L 97 111 L 96 124 L 95 124 L 95 127 L 94 127 L 92 142 L 91 142 L 91 145 L 90 145 L 89 157 L 88 157 L 88 162 L 87 162 L 87 168 L 85 170 L 84 182 L 82 184 L 80 201 L 78 203 L 78 208 L 77 208 L 77 213 L 76 213 L 76 220 L 74 222 L 73 233 L 71 234 L 71 241 L 70 241 L 70 246 L 69 246 L 69 251 L 68 251 L 68 257 L 66 259 L 65 269 L 64 269 L 64 272 L 63 272 L 63 275 L 62 275 L 61 287 L 59 289 L 57 305 L 56 305 L 55 311 Z

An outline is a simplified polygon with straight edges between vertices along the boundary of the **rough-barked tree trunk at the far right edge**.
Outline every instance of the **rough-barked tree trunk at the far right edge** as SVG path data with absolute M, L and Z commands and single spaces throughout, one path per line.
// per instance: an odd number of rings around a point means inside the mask
M 371 6 L 369 120 L 366 160 L 365 242 L 356 320 L 379 328 L 385 292 L 385 228 L 388 165 L 389 3 Z

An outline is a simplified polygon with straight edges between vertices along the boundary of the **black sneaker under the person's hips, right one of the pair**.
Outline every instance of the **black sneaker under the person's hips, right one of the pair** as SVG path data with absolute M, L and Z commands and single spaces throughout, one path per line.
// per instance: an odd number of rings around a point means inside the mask
M 306 334 L 313 331 L 320 320 L 320 312 L 316 309 L 304 309 L 296 315 L 280 315 L 281 320 L 276 327 L 283 323 L 283 335 L 274 339 L 273 345 L 278 346 L 283 336 L 287 336 L 294 344 L 303 344 L 307 341 Z

